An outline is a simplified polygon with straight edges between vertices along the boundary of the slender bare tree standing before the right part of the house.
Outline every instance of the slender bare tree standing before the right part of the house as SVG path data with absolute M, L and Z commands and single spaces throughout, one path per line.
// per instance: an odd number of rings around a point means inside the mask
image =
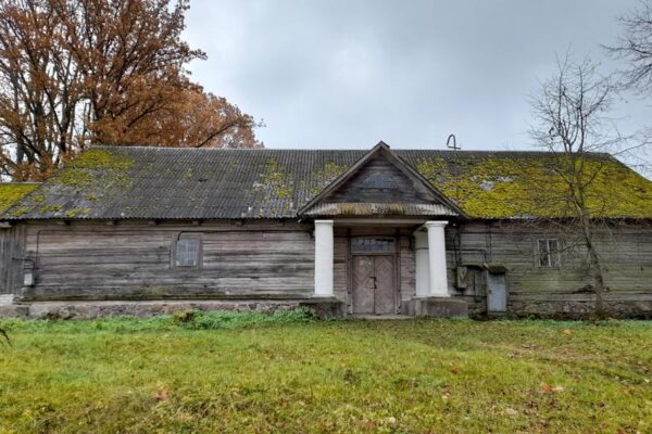
M 609 197 L 595 197 L 593 184 L 601 176 L 611 156 L 604 152 L 617 152 L 624 138 L 607 116 L 615 87 L 611 77 L 600 76 L 598 65 L 590 60 L 575 62 L 567 55 L 557 61 L 554 77 L 542 81 L 538 94 L 530 98 L 534 126 L 530 136 L 537 145 L 551 153 L 546 158 L 546 171 L 554 177 L 554 186 L 538 186 L 549 189 L 546 203 L 561 212 L 554 216 L 560 230 L 567 239 L 577 240 L 586 252 L 586 264 L 590 284 L 595 294 L 595 315 L 604 316 L 603 265 L 598 247 L 598 237 L 604 232 L 601 217 L 605 215 L 600 204 Z M 603 163 L 601 163 L 603 162 Z

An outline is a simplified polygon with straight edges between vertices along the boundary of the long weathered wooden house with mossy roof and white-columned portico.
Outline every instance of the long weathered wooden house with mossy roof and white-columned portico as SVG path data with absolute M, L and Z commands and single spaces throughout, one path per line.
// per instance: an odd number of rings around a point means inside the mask
M 595 291 L 554 157 L 93 146 L 0 186 L 0 312 L 584 317 Z M 650 318 L 652 182 L 587 164 L 607 314 Z

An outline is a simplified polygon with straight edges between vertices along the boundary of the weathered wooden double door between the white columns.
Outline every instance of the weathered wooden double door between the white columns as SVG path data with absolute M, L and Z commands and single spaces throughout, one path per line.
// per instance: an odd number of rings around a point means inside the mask
M 393 255 L 353 255 L 353 314 L 397 312 L 394 263 Z

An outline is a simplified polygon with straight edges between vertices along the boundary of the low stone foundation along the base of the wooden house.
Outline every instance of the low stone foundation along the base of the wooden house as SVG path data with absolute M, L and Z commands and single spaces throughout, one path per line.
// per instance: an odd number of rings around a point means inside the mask
M 484 304 L 455 297 L 413 298 L 404 304 L 402 315 L 448 317 L 485 317 L 478 310 Z M 186 310 L 258 311 L 293 309 L 300 306 L 315 310 L 321 319 L 346 316 L 344 303 L 337 298 L 304 298 L 289 301 L 114 301 L 114 302 L 32 302 L 0 305 L 0 318 L 20 317 L 34 319 L 92 319 L 103 317 L 134 316 L 151 317 Z M 591 296 L 546 299 L 543 297 L 512 298 L 507 317 L 587 319 L 594 316 L 595 304 Z M 611 298 L 605 301 L 606 315 L 611 318 L 652 319 L 652 296 L 639 299 Z

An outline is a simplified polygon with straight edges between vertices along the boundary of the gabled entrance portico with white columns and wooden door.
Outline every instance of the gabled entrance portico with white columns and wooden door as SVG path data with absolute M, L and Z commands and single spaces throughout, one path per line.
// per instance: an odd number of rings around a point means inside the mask
M 448 299 L 446 227 L 464 213 L 380 142 L 300 212 L 314 222 L 314 297 L 353 315 Z M 416 309 L 418 311 L 418 309 Z

